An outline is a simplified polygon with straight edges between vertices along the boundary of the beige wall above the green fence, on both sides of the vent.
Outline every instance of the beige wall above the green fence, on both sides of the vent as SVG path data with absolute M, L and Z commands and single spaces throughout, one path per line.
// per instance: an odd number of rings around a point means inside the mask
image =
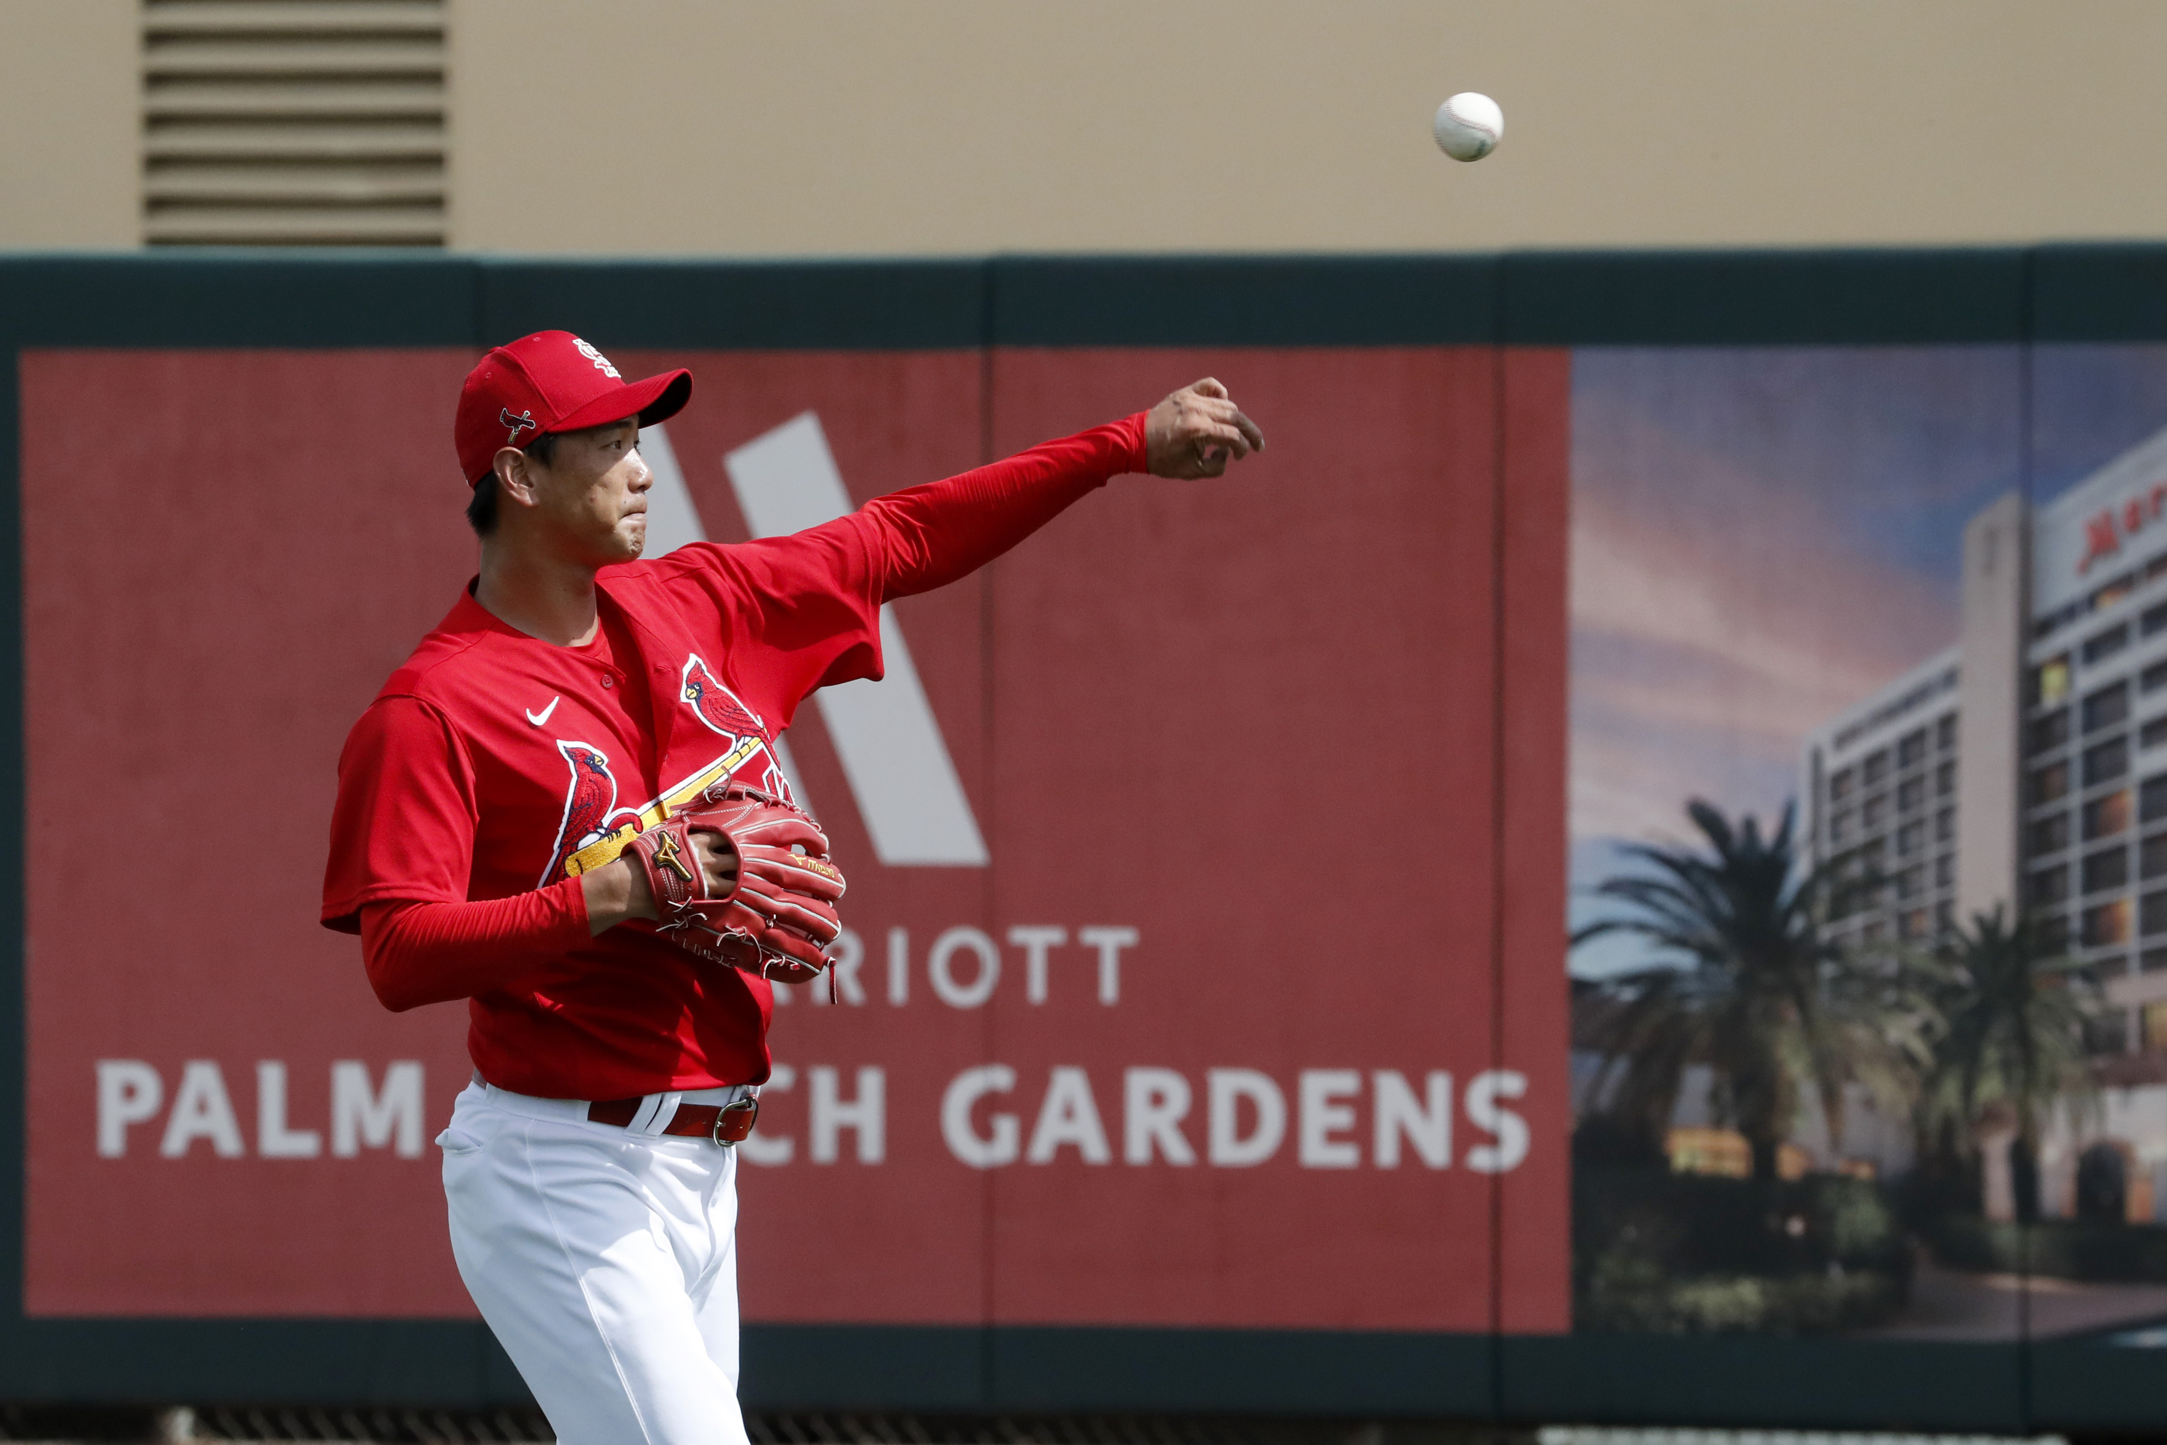
M 2160 0 L 449 2 L 470 249 L 2167 238 Z M 0 247 L 137 243 L 137 76 L 0 0 Z

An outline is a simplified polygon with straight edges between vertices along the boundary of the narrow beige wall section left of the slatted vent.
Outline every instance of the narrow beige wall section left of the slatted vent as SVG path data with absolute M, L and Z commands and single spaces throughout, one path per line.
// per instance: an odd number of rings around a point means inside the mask
M 132 0 L 0 0 L 0 247 L 143 238 Z

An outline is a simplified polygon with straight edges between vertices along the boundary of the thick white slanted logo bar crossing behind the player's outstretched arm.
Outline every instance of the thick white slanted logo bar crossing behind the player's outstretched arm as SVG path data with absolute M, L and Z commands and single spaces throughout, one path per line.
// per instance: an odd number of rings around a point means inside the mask
M 800 412 L 724 455 L 730 490 L 754 537 L 782 537 L 852 511 L 819 416 Z M 843 776 L 880 862 L 986 867 L 971 799 L 925 700 L 895 611 L 880 609 L 882 682 L 815 693 Z

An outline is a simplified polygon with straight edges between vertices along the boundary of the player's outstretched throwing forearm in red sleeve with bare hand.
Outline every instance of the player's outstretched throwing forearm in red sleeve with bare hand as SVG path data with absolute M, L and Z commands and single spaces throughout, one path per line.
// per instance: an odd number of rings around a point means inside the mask
M 1205 377 L 1151 412 L 1042 442 L 1005 461 L 867 503 L 882 559 L 880 600 L 945 587 L 1016 546 L 1086 492 L 1123 472 L 1220 477 L 1263 448 L 1263 433 Z

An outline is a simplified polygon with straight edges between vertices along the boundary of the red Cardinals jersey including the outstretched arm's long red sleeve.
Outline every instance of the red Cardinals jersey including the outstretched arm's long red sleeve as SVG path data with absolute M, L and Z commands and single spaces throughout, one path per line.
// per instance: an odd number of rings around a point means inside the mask
M 1142 414 L 793 537 L 605 568 L 576 648 L 468 591 L 347 737 L 323 923 L 559 884 L 583 847 L 717 776 L 787 793 L 774 741 L 813 689 L 880 676 L 882 602 L 966 576 L 1125 470 L 1144 470 Z M 475 994 L 468 1053 L 546 1098 L 761 1083 L 771 1007 L 765 979 L 635 921 Z

